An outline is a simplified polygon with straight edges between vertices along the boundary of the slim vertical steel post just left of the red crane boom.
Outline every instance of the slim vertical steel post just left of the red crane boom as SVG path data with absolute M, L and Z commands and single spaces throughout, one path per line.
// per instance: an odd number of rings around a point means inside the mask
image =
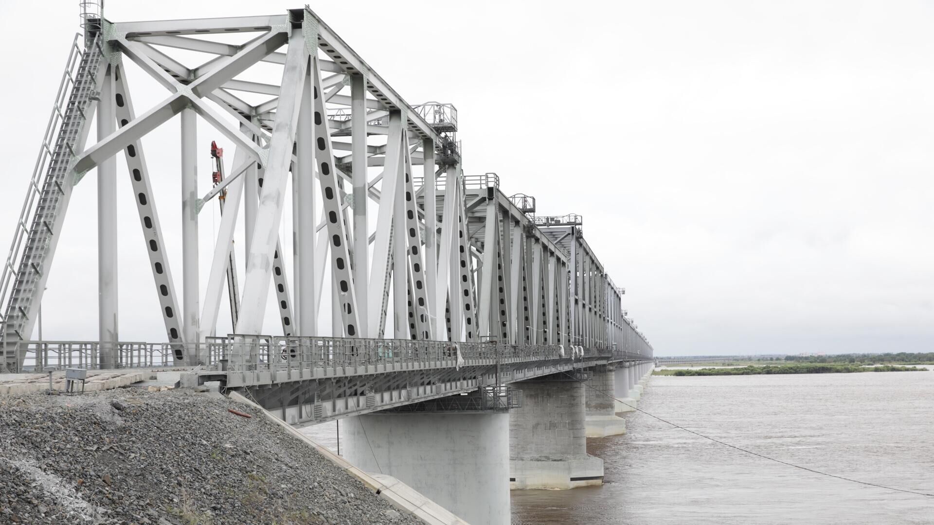
M 198 342 L 198 135 L 197 113 L 181 110 L 181 279 L 188 364 L 197 364 Z

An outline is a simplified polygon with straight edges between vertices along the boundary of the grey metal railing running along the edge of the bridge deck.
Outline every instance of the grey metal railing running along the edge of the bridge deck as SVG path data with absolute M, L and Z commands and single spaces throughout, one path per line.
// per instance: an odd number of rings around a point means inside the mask
M 290 371 L 299 369 L 365 367 L 379 364 L 469 366 L 471 362 L 529 362 L 568 360 L 645 361 L 638 352 L 611 348 L 563 348 L 552 345 L 451 343 L 410 339 L 359 339 L 240 335 L 209 337 L 204 343 L 144 343 L 98 341 L 21 341 L 25 359 L 16 372 L 46 368 L 101 368 L 101 349 L 116 346 L 118 368 L 182 367 L 176 351 L 195 352 L 203 366 L 219 372 Z

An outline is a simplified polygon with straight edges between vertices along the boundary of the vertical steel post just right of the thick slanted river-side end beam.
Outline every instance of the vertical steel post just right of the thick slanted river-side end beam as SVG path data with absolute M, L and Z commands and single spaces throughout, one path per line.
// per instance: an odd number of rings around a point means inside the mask
M 298 210 L 295 242 L 298 245 L 298 257 L 295 262 L 295 299 L 298 310 L 298 334 L 304 336 L 318 334 L 318 308 L 315 303 L 315 124 L 312 121 L 311 72 L 304 76 L 304 90 L 298 114 L 296 143 L 298 162 L 296 163 L 297 199 L 292 206 Z M 359 260 L 358 260 L 359 261 Z

